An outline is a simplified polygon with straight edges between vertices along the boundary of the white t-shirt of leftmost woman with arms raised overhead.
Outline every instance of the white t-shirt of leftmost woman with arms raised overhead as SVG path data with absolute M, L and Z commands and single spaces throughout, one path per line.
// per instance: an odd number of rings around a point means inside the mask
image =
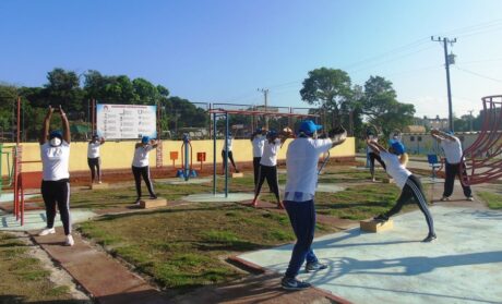
M 70 144 L 62 141 L 58 147 L 48 142 L 40 145 L 41 175 L 44 181 L 59 181 L 70 178 Z

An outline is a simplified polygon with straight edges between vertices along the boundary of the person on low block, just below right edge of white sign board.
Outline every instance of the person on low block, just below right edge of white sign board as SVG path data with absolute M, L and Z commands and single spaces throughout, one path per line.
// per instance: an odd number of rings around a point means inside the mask
M 154 186 L 150 180 L 150 161 L 148 154 L 152 149 L 158 145 L 157 141 L 150 139 L 148 136 L 143 136 L 141 143 L 136 143 L 134 146 L 134 158 L 132 159 L 132 174 L 134 175 L 134 182 L 136 185 L 136 202 L 140 204 L 141 199 L 141 178 L 145 181 L 146 187 L 148 189 L 150 198 L 156 199 L 157 195 L 154 192 Z

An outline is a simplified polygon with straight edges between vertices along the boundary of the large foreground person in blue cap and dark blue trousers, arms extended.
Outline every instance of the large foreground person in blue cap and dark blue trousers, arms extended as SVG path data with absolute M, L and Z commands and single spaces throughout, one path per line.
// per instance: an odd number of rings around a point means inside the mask
M 287 183 L 284 194 L 284 207 L 291 222 L 297 242 L 292 248 L 291 259 L 280 284 L 285 290 L 302 290 L 310 283 L 296 277 L 307 260 L 306 271 L 326 269 L 319 263 L 312 250 L 315 230 L 314 195 L 318 185 L 319 157 L 331 148 L 345 142 L 347 132 L 339 127 L 330 132 L 331 138 L 316 138 L 321 125 L 311 120 L 302 121 L 298 136 L 292 141 L 286 154 Z

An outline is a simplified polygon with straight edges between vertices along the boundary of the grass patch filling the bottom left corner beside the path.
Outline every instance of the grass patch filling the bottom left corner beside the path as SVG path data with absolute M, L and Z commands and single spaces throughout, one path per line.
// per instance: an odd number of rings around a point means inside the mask
M 57 287 L 50 272 L 28 254 L 27 245 L 16 236 L 0 232 L 0 300 L 2 303 L 76 303 L 69 287 Z

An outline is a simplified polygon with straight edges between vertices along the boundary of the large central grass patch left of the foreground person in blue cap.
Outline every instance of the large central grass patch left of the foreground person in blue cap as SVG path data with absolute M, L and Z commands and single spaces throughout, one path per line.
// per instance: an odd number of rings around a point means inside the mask
M 106 216 L 81 224 L 80 230 L 160 287 L 177 292 L 240 278 L 242 273 L 222 262 L 222 256 L 295 240 L 285 215 L 237 204 Z

